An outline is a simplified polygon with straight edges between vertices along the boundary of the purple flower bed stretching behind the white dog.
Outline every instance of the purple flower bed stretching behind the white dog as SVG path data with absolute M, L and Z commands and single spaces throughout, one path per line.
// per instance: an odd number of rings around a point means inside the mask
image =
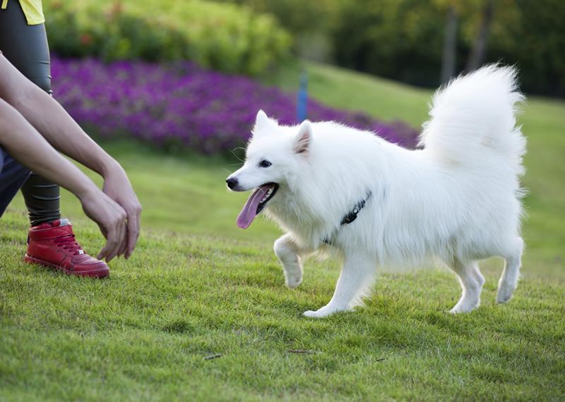
M 295 124 L 296 95 L 249 78 L 179 66 L 124 61 L 52 59 L 54 95 L 81 125 L 98 135 L 129 136 L 157 146 L 225 152 L 249 138 L 258 109 Z M 312 121 L 334 120 L 372 130 L 407 147 L 417 132 L 405 123 L 380 123 L 366 114 L 308 102 Z

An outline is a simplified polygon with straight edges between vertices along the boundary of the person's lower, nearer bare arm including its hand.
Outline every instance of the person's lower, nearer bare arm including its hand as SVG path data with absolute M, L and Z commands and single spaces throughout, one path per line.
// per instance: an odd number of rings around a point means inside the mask
M 126 212 L 96 187 L 78 167 L 37 133 L 10 104 L 0 99 L 0 145 L 18 162 L 71 191 L 107 238 L 98 258 L 119 255 L 126 243 Z

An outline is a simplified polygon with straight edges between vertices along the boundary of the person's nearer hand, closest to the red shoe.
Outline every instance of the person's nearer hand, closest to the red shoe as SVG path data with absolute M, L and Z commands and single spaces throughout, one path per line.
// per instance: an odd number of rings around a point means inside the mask
M 126 212 L 98 188 L 93 188 L 79 199 L 85 214 L 98 224 L 106 238 L 106 244 L 97 258 L 109 262 L 119 255 L 127 243 Z

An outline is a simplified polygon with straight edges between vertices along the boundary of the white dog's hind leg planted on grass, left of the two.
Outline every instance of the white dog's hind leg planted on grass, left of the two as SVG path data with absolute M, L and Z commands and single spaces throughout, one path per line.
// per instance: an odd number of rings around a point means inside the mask
M 453 262 L 448 263 L 449 267 L 456 272 L 463 294 L 451 309 L 451 313 L 470 312 L 480 305 L 480 296 L 484 278 L 479 271 L 476 261 L 462 261 L 454 258 Z

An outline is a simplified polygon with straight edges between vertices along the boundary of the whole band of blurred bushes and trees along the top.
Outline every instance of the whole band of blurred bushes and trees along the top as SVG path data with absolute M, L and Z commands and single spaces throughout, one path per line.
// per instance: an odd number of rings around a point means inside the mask
M 565 95 L 561 0 L 44 0 L 52 49 L 105 60 L 192 59 L 270 73 L 291 56 L 435 87 L 501 61 L 525 92 Z

